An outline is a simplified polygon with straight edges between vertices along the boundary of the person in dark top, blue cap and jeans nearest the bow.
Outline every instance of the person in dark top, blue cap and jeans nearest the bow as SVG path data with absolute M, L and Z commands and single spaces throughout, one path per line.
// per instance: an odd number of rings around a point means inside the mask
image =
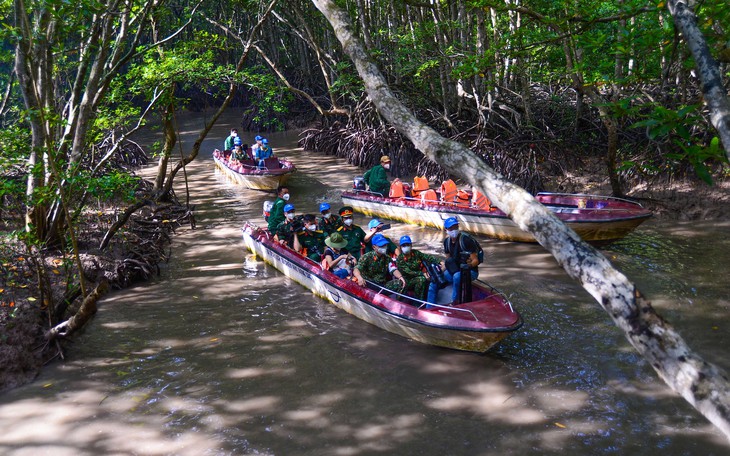
M 454 305 L 459 303 L 462 272 L 468 270 L 472 280 L 479 276 L 479 263 L 481 262 L 479 256 L 482 248 L 474 238 L 459 231 L 459 221 L 456 217 L 444 220 L 444 229 L 447 234 L 444 239 L 446 260 L 442 263 L 441 268 L 444 270 L 446 281 L 454 285 L 451 292 L 451 304 Z M 428 286 L 428 302 L 435 303 L 437 295 L 438 285 L 431 282 Z

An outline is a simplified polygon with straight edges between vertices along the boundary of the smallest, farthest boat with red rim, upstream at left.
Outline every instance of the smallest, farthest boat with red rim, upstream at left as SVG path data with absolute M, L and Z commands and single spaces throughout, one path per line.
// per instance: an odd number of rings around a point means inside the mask
M 218 149 L 213 151 L 213 160 L 229 179 L 253 190 L 276 190 L 297 170 L 289 160 L 274 157 L 264 160 L 261 168 L 253 160 L 232 164 L 226 154 Z

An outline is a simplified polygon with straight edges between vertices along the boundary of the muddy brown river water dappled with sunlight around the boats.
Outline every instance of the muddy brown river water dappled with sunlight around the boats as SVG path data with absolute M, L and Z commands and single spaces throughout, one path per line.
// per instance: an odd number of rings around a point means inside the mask
M 65 362 L 0 396 L 0 454 L 730 454 L 538 245 L 480 238 L 480 277 L 525 321 L 484 355 L 387 333 L 255 259 L 240 226 L 263 222 L 273 198 L 233 186 L 211 159 L 234 114 L 188 168 L 197 229 L 178 229 L 158 280 L 100 303 Z M 183 121 L 186 149 L 201 121 Z M 294 132 L 269 138 L 299 168 L 299 213 L 324 200 L 339 207 L 362 172 L 296 148 Z M 177 188 L 184 200 L 182 179 Z M 602 248 L 726 370 L 729 229 L 651 220 Z M 402 224 L 387 234 L 434 253 L 442 239 Z

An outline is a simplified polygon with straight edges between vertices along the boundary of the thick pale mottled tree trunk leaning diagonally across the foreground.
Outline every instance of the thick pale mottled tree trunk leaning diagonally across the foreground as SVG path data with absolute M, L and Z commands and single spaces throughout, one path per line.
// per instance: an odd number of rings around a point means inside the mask
M 312 0 L 334 28 L 380 114 L 425 156 L 489 196 L 557 259 L 608 312 L 659 376 L 730 438 L 730 382 L 718 367 L 694 353 L 636 286 L 583 242 L 524 189 L 506 181 L 460 143 L 441 137 L 395 97 L 353 32 L 347 13 L 332 0 Z

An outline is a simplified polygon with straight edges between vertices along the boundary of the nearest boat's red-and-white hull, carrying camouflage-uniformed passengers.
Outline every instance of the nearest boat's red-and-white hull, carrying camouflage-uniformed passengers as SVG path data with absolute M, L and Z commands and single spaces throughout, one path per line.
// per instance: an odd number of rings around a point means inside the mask
M 439 347 L 485 352 L 522 326 L 507 298 L 486 283 L 472 283 L 472 302 L 454 307 L 435 304 L 427 309 L 425 302 L 397 296 L 377 285 L 361 287 L 341 279 L 275 242 L 255 225 L 247 223 L 242 230 L 246 247 L 264 261 L 340 309 L 394 334 Z M 450 288 L 440 295 L 450 298 Z

